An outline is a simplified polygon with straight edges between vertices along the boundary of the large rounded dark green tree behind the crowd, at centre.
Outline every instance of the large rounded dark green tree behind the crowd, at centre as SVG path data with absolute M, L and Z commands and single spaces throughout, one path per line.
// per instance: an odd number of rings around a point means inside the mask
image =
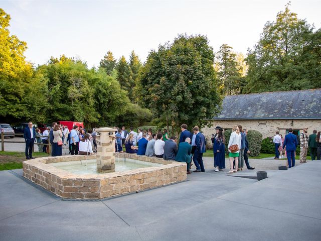
M 135 88 L 139 103 L 151 109 L 160 127 L 176 131 L 183 123 L 204 127 L 221 100 L 213 62 L 205 36 L 179 35 L 172 44 L 159 45 L 139 74 Z

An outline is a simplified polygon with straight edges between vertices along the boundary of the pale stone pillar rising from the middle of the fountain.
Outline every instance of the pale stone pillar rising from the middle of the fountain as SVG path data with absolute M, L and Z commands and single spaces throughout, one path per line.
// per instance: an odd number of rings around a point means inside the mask
M 108 173 L 115 171 L 115 129 L 99 128 L 97 132 L 97 172 Z

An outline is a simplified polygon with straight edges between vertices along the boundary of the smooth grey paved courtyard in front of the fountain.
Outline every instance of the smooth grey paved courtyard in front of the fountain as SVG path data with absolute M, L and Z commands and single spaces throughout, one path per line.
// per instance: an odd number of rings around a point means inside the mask
M 0 240 L 320 240 L 321 162 L 226 172 L 101 201 L 66 201 L 0 172 Z M 255 170 L 235 175 L 254 176 Z

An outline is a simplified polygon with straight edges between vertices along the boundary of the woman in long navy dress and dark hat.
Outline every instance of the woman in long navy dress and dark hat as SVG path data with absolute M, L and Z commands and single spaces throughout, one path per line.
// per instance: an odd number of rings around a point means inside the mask
M 213 153 L 214 153 L 214 170 L 222 171 L 225 168 L 225 138 L 223 129 L 216 127 L 216 134 L 212 136 Z

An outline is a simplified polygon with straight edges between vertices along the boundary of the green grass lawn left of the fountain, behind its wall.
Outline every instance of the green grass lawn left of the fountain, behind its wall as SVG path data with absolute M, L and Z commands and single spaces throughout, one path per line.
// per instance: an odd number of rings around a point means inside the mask
M 34 152 L 33 156 L 48 157 L 49 154 Z M 20 169 L 23 161 L 26 161 L 24 152 L 0 152 L 0 171 Z

